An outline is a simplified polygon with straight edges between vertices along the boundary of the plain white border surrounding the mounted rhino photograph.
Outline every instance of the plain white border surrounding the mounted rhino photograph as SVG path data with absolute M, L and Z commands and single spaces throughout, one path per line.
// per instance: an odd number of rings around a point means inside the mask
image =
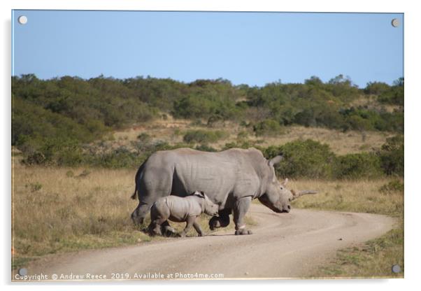
M 1 278 L 3 284 L 10 284 L 10 15 L 11 9 L 83 9 L 83 10 L 242 10 L 242 11 L 309 11 L 309 12 L 389 12 L 405 13 L 405 83 L 406 83 L 406 180 L 405 180 L 405 279 L 393 280 L 346 280 L 346 281 L 271 281 L 263 283 L 262 281 L 217 281 L 207 283 L 190 281 L 172 283 L 173 290 L 215 290 L 215 288 L 246 288 L 255 289 L 257 285 L 266 285 L 264 288 L 305 288 L 311 290 L 352 290 L 355 288 L 382 288 L 382 290 L 406 290 L 419 287 L 420 270 L 420 196 L 416 184 L 415 175 L 419 175 L 420 164 L 420 129 L 418 123 L 418 111 L 420 111 L 420 9 L 415 6 L 416 1 L 135 1 L 135 0 L 59 0 L 59 1 L 0 1 L 1 5 L 1 69 L 0 88 L 1 88 L 1 129 L 3 142 L 1 143 L 1 185 L 3 186 L 2 217 L 3 223 L 1 240 L 1 250 L 3 251 L 3 262 L 1 264 Z M 417 90 L 418 89 L 418 90 Z M 415 130 L 417 129 L 418 130 Z M 417 132 L 418 134 L 415 134 Z M 417 187 L 418 186 L 418 187 Z M 280 250 L 282 251 L 282 250 Z M 125 284 L 118 288 L 153 288 L 153 290 L 164 290 L 169 288 L 168 282 L 161 283 L 148 282 L 144 286 L 134 283 Z M 15 284 L 16 285 L 16 284 Z M 83 288 L 80 284 L 78 288 Z M 114 290 L 116 285 L 90 285 L 86 290 L 101 289 Z M 153 286 L 151 286 L 153 285 Z M 199 285 L 199 286 L 198 286 Z M 273 286 L 282 285 L 282 286 Z M 10 285 L 7 289 L 13 288 Z M 31 285 L 34 290 L 57 289 L 57 286 Z M 73 290 L 74 285 L 62 285 L 60 288 Z

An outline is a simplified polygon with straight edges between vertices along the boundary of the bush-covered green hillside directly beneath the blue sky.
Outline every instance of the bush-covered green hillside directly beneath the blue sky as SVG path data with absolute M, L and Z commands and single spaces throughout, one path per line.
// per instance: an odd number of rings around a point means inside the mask
M 234 143 L 267 147 L 298 136 L 327 142 L 339 154 L 348 152 L 351 144 L 352 152 L 380 146 L 385 137 L 404 130 L 403 80 L 393 86 L 369 83 L 359 89 L 343 76 L 328 83 L 311 77 L 303 84 L 249 87 L 223 79 L 180 83 L 104 76 L 40 80 L 24 75 L 12 78 L 12 96 L 12 145 L 29 164 L 113 166 L 108 157 L 105 162 L 83 157 L 92 155 L 90 143 L 113 139 L 116 130 L 141 129 L 148 123 L 146 134 L 156 134 L 152 138 L 170 146 L 186 146 L 183 142 L 187 146 L 197 143 L 205 150 Z M 171 131 L 162 120 L 188 120 L 190 126 L 204 128 L 192 133 L 176 127 Z M 334 134 L 327 128 L 334 129 Z M 350 143 L 348 138 L 353 136 L 361 141 Z M 143 159 L 157 149 L 150 149 Z M 120 148 L 120 152 L 127 150 Z

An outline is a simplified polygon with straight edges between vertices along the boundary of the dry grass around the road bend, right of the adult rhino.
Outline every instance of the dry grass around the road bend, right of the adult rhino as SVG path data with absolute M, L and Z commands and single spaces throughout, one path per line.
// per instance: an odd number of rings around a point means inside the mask
M 292 181 L 292 189 L 319 191 L 315 196 L 294 201 L 298 208 L 380 213 L 398 219 L 397 227 L 378 239 L 339 250 L 328 264 L 314 271 L 313 277 L 399 277 L 404 276 L 404 193 L 381 192 L 390 178 L 361 181 Z M 403 182 L 403 181 L 402 181 Z M 393 264 L 402 271 L 394 274 Z

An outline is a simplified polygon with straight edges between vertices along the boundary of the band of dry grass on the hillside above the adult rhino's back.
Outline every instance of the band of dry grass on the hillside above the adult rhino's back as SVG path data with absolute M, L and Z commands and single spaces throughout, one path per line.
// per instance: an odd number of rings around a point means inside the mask
M 208 127 L 206 127 L 208 128 Z M 149 134 L 152 139 L 166 141 L 170 144 L 183 142 L 183 133 L 187 129 L 204 129 L 204 126 L 192 125 L 190 120 L 175 120 L 169 116 L 167 120 L 155 120 L 153 122 L 145 122 L 129 129 L 124 129 L 113 134 L 113 145 L 122 146 L 129 145 L 130 141 L 135 141 L 137 136 L 142 133 Z M 259 146 L 282 145 L 296 139 L 313 139 L 321 143 L 327 143 L 331 150 L 337 155 L 345 155 L 353 152 L 368 151 L 372 148 L 379 148 L 385 143 L 387 137 L 393 134 L 387 132 L 341 132 L 334 129 L 325 129 L 321 127 L 302 127 L 291 126 L 285 127 L 283 133 L 272 137 L 257 137 L 252 133 L 251 129 L 242 127 L 236 122 L 224 122 L 212 130 L 219 129 L 228 133 L 226 139 L 210 143 L 209 146 L 218 150 L 224 148 L 225 143 L 238 141 L 238 133 L 248 132 L 248 137 L 242 141 L 257 142 Z

